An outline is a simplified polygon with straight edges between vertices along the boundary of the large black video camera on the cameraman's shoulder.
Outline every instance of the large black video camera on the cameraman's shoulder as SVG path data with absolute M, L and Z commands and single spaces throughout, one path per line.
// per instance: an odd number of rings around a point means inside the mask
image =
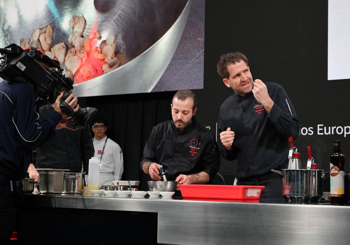
M 63 68 L 46 55 L 42 55 L 32 45 L 29 53 L 16 44 L 10 44 L 0 49 L 0 77 L 12 81 L 19 80 L 28 82 L 33 86 L 35 93 L 40 98 L 42 104 L 53 104 L 59 95 L 64 91 L 61 98 L 60 108 L 66 116 L 72 117 L 73 127 L 76 129 L 85 128 L 89 124 L 97 109 L 93 107 L 79 107 L 76 113 L 64 101 L 69 92 L 73 89 L 74 81 L 63 74 Z M 49 64 L 52 70 L 46 70 L 39 61 Z

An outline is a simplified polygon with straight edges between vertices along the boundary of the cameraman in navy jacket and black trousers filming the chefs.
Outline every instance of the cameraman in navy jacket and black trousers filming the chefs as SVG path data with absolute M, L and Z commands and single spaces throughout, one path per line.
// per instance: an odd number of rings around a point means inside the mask
M 49 69 L 47 62 L 38 61 Z M 20 180 L 27 175 L 31 149 L 53 138 L 55 129 L 74 130 L 59 107 L 62 96 L 57 97 L 55 109 L 38 122 L 40 100 L 34 89 L 21 77 L 0 83 L 0 244 L 8 243 L 12 235 L 16 208 L 24 197 Z M 71 94 L 65 102 L 78 111 L 77 97 Z

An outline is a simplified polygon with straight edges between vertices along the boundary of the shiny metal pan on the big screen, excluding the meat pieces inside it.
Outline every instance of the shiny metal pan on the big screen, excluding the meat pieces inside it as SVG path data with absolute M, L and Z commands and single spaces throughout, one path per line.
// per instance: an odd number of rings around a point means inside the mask
M 29 40 L 36 28 L 50 24 L 53 47 L 68 43 L 69 20 L 84 15 L 87 37 L 93 24 L 105 40 L 117 38 L 121 66 L 75 85 L 74 95 L 149 92 L 163 75 L 179 44 L 191 0 L 3 0 L 0 47 Z

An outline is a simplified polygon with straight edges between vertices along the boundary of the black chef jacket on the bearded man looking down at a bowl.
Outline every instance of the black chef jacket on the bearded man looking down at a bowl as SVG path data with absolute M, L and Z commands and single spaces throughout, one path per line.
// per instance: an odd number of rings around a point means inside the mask
M 220 154 L 214 134 L 193 117 L 183 132 L 177 130 L 173 120 L 153 127 L 141 169 L 144 162 L 163 165 L 168 181 L 175 181 L 180 174 L 205 172 L 211 182 L 220 167 Z

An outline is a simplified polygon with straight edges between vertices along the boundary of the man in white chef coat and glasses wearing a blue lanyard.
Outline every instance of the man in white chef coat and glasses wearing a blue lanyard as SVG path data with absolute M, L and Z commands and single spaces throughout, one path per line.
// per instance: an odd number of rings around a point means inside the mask
M 92 139 L 95 149 L 94 156 L 101 161 L 99 186 L 113 185 L 113 180 L 121 180 L 123 174 L 123 152 L 120 146 L 106 135 L 105 120 L 96 117 L 93 120 L 92 131 L 94 133 Z

